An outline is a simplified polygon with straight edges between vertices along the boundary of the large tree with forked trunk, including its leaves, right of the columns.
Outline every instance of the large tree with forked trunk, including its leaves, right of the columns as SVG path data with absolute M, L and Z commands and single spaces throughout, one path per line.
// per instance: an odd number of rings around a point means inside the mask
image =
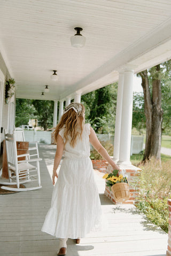
M 143 161 L 149 160 L 152 156 L 160 159 L 162 123 L 167 127 L 171 121 L 170 115 L 166 117 L 171 111 L 168 101 L 170 97 L 170 94 L 168 94 L 170 91 L 170 71 L 171 61 L 169 60 L 138 74 L 142 77 L 146 118 L 146 142 Z M 164 111 L 162 107 L 164 107 Z

